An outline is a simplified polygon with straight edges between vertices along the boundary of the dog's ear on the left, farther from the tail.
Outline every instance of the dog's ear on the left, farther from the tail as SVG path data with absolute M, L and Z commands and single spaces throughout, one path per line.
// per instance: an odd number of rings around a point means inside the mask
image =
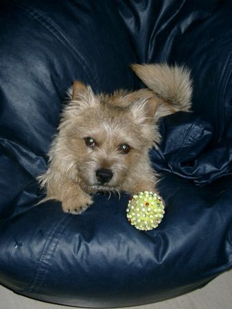
M 95 106 L 98 102 L 92 88 L 89 85 L 86 86 L 79 80 L 73 82 L 71 101 L 79 108 L 90 108 Z

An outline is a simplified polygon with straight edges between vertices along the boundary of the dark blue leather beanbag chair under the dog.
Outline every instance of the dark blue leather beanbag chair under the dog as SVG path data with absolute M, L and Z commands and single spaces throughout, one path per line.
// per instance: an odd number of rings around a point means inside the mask
M 231 10 L 230 0 L 0 0 L 1 284 L 58 304 L 134 306 L 231 268 Z M 141 88 L 132 62 L 192 70 L 194 113 L 161 119 L 150 153 L 161 225 L 132 227 L 127 194 L 96 194 L 80 216 L 36 205 L 66 89 Z

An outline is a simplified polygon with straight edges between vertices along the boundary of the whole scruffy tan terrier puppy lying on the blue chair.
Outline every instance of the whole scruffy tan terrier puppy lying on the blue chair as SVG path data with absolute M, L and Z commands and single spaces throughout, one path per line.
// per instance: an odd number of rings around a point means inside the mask
M 192 85 L 184 67 L 132 65 L 148 89 L 95 94 L 74 82 L 62 111 L 49 168 L 39 177 L 47 198 L 80 214 L 97 191 L 156 191 L 149 150 L 159 143 L 160 117 L 191 108 Z

